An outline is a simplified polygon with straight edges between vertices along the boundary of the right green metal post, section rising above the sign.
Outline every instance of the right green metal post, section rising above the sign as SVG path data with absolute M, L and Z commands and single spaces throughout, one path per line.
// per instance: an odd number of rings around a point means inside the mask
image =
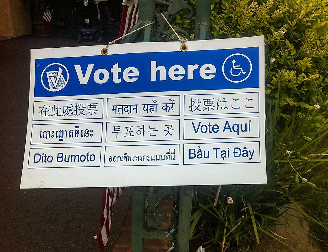
M 197 0 L 195 18 L 195 40 L 209 37 L 211 18 L 211 0 Z

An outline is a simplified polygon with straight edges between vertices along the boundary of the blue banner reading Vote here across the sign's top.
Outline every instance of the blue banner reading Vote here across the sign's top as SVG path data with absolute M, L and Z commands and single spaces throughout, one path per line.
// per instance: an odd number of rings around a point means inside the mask
M 259 88 L 259 47 L 35 60 L 34 97 Z

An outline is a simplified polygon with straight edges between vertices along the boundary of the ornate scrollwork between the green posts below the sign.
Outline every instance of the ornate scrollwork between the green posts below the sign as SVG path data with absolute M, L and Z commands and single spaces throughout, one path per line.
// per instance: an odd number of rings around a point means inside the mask
M 174 208 L 161 202 L 171 196 L 173 202 L 178 198 L 178 190 L 174 186 L 161 187 L 156 193 L 146 193 L 148 206 L 146 208 L 147 229 L 170 230 L 175 223 Z M 171 200 L 170 200 L 171 201 Z

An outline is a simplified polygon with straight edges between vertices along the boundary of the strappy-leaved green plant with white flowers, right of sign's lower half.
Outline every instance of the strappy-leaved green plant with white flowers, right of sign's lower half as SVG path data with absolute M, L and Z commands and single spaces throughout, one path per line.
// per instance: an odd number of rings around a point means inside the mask
M 320 148 L 328 134 L 328 120 L 319 128 L 311 129 L 317 111 L 312 110 L 303 117 L 295 112 L 280 129 L 281 134 L 275 135 L 277 120 L 274 114 L 277 113 L 269 113 L 266 121 L 268 183 L 222 185 L 216 206 L 218 186 L 198 186 L 191 239 L 201 238 L 217 246 L 225 243 L 246 251 L 254 241 L 259 242 L 263 233 L 277 239 L 268 228 L 290 208 L 328 230 L 328 226 L 300 206 L 302 202 L 315 201 L 328 194 L 316 187 L 317 182 L 328 178 L 328 167 L 322 169 L 320 166 L 328 161 L 327 156 L 322 155 L 328 152 L 328 147 Z M 311 189 L 316 190 L 312 192 Z M 232 204 L 228 203 L 228 197 L 233 200 Z

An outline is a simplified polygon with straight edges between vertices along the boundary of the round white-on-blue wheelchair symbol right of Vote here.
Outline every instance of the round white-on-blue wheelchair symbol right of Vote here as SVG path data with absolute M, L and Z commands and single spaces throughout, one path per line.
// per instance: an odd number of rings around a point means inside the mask
M 252 62 L 244 54 L 231 54 L 222 64 L 222 73 L 230 82 L 243 82 L 252 73 Z

